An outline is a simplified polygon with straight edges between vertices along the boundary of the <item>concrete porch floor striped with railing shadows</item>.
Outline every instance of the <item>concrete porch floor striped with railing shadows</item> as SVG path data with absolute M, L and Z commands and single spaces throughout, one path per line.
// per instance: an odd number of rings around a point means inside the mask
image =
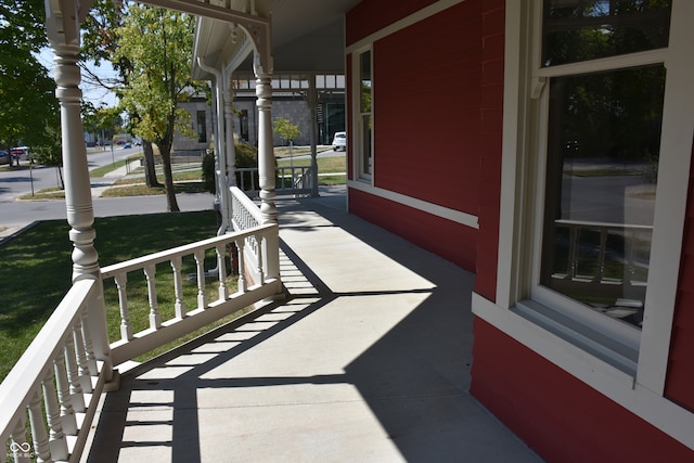
M 82 461 L 541 461 L 467 393 L 474 275 L 321 194 L 278 201 L 290 300 L 125 372 Z

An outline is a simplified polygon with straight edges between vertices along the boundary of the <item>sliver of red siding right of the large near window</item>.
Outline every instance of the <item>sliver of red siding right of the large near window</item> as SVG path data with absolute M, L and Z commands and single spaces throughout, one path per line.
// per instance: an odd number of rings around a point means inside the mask
M 694 411 L 694 163 L 690 171 L 690 194 L 676 304 L 665 395 Z

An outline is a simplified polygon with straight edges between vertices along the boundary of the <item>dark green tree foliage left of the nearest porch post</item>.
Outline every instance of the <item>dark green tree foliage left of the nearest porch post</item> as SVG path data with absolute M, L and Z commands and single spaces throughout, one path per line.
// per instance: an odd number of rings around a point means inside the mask
M 59 127 L 55 83 L 36 53 L 47 44 L 41 0 L 0 0 L 0 146 L 47 144 Z

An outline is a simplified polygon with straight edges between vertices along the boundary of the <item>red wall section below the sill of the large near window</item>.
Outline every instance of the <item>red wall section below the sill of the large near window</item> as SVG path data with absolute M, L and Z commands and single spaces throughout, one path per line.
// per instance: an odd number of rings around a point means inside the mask
M 548 462 L 694 461 L 685 446 L 488 323 L 475 319 L 474 331 L 471 393 Z

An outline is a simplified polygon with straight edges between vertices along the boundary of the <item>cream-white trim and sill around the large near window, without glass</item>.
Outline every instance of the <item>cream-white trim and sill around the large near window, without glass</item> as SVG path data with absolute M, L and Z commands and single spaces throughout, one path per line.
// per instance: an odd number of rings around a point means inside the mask
M 473 311 L 511 337 L 576 376 L 615 402 L 694 449 L 694 413 L 666 399 L 664 394 L 674 297 L 679 281 L 681 243 L 689 190 L 692 136 L 694 132 L 694 63 L 687 47 L 694 42 L 694 2 L 673 0 L 670 46 L 667 51 L 639 53 L 641 61 L 665 61 L 668 80 L 665 92 L 659 177 L 645 318 L 640 336 L 635 377 L 575 343 L 553 334 L 522 317 L 516 303 L 528 299 L 532 290 L 532 258 L 537 198 L 530 193 L 538 173 L 529 152 L 538 137 L 536 123 L 543 81 L 555 69 L 538 69 L 541 1 L 505 3 L 504 115 L 499 226 L 499 257 L 496 303 L 473 295 Z M 535 15 L 535 16 L 534 16 Z M 531 33 L 529 33 L 531 31 Z M 530 55 L 528 55 L 528 53 Z M 634 56 L 625 57 L 625 66 Z M 596 60 L 601 65 L 607 60 Z M 536 66 L 532 66 L 536 63 Z M 606 63 L 604 63 L 606 64 Z M 614 67 L 613 60 L 609 67 Z M 583 64 L 565 65 L 583 66 Z M 558 67 L 558 66 L 557 66 Z M 536 69 L 535 72 L 534 68 Z M 578 68 L 578 67 L 577 67 Z M 560 69 L 561 70 L 561 69 Z M 541 209 L 540 209 L 541 210 Z M 666 226 L 661 226 L 667 223 Z M 528 263 L 530 262 L 530 263 Z M 650 316 L 657 313 L 657 317 Z

